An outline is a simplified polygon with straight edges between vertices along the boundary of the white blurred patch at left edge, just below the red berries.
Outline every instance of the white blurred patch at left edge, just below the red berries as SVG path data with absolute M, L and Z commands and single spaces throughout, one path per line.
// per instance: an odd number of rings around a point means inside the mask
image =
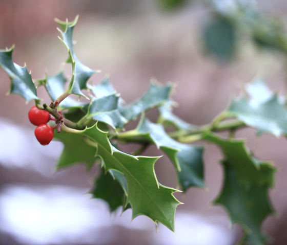
M 43 147 L 33 130 L 6 118 L 0 118 L 0 135 L 0 164 L 6 168 L 28 168 L 45 175 L 49 173 L 45 166 L 55 163 L 63 150 L 63 145 L 55 141 Z

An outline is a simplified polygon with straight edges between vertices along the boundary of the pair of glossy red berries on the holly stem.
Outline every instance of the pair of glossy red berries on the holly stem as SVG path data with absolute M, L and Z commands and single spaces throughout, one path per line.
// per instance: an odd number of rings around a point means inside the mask
M 41 145 L 49 145 L 54 137 L 53 128 L 47 124 L 50 121 L 50 113 L 40 110 L 35 105 L 29 110 L 30 122 L 37 126 L 35 136 Z

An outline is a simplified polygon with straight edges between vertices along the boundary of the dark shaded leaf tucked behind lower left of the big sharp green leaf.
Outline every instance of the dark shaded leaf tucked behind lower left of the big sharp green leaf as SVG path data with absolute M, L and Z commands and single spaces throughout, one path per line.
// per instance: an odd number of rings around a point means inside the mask
M 105 173 L 104 168 L 101 168 L 101 173 L 95 180 L 95 188 L 91 191 L 94 198 L 101 198 L 109 204 L 111 212 L 122 206 L 125 195 L 121 185 L 112 174 L 114 172 L 119 173 L 115 170 L 110 170 Z

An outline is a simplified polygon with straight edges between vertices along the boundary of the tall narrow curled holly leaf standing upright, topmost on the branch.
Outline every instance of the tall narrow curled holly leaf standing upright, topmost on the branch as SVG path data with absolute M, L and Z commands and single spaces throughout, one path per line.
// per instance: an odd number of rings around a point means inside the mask
M 69 53 L 69 58 L 66 62 L 72 63 L 72 68 L 73 68 L 73 76 L 69 84 L 68 90 L 71 94 L 86 97 L 81 92 L 81 90 L 87 90 L 88 79 L 93 74 L 99 71 L 91 70 L 90 68 L 82 64 L 74 53 L 72 36 L 73 36 L 74 26 L 77 24 L 77 20 L 78 20 L 78 16 L 70 23 L 68 22 L 68 20 L 64 22 L 59 19 L 56 19 L 55 21 L 63 29 L 63 31 L 58 29 L 58 31 L 61 33 L 62 38 L 63 38 L 63 39 L 60 38 L 60 40 L 65 44 L 68 50 L 68 53 Z

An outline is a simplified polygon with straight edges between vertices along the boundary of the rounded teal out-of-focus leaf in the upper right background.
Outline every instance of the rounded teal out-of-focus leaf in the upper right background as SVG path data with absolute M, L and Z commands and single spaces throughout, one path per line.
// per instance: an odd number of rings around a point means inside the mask
M 220 59 L 230 59 L 235 52 L 235 30 L 230 21 L 216 17 L 203 31 L 205 49 Z

